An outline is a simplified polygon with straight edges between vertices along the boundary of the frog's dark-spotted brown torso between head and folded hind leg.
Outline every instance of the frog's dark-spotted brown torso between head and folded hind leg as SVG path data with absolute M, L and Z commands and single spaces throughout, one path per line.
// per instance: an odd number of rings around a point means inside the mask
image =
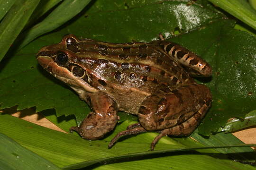
M 165 87 L 192 82 L 157 41 L 116 44 L 83 40 L 73 62 L 86 70 L 85 81 L 109 94 L 120 110 L 137 112 L 143 100 Z

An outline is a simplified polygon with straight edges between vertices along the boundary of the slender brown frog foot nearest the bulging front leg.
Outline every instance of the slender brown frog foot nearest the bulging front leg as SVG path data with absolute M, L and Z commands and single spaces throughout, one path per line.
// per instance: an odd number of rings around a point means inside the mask
M 135 124 L 134 124 L 135 125 Z M 131 126 L 131 125 L 130 125 Z M 130 127 L 128 126 L 128 127 Z M 143 132 L 147 132 L 147 130 L 141 126 L 132 128 L 132 129 L 128 129 L 125 131 L 122 131 L 120 133 L 118 133 L 111 141 L 109 144 L 109 149 L 117 142 L 117 140 L 119 139 L 119 137 L 121 136 L 127 136 L 127 135 L 137 135 L 139 133 L 143 133 Z

